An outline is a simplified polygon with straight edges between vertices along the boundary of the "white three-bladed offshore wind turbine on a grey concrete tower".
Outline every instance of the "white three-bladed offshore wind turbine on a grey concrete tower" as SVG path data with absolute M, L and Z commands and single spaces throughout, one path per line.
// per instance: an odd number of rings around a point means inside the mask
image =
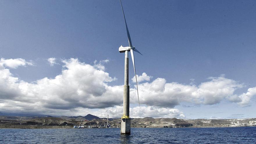
M 130 134 L 131 133 L 131 119 L 129 117 L 129 58 L 128 58 L 128 52 L 131 52 L 131 60 L 133 63 L 134 73 L 135 73 L 135 79 L 136 79 L 136 86 L 137 86 L 137 94 L 138 94 L 138 101 L 140 105 L 139 100 L 139 93 L 138 93 L 138 83 L 137 83 L 137 76 L 136 76 L 136 69 L 135 69 L 135 62 L 134 62 L 134 54 L 133 51 L 138 52 L 141 54 L 137 49 L 135 49 L 134 46 L 131 44 L 131 37 L 130 33 L 127 27 L 125 14 L 122 6 L 122 2 L 120 0 L 124 20 L 125 20 L 125 28 L 127 32 L 129 47 L 123 47 L 122 45 L 119 47 L 119 52 L 123 53 L 125 52 L 125 85 L 124 85 L 124 99 L 123 99 L 123 114 L 122 114 L 122 121 L 121 121 L 121 134 Z M 142 54 L 141 54 L 142 55 Z M 140 105 L 141 108 L 141 105 Z

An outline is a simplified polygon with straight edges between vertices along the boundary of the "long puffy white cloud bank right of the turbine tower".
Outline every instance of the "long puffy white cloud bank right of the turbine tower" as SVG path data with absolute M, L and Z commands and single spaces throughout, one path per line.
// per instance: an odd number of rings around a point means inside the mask
M 210 77 L 208 80 L 198 86 L 177 82 L 166 83 L 163 78 L 157 78 L 152 83 L 141 83 L 138 85 L 140 102 L 149 106 L 169 108 L 181 102 L 212 105 L 220 103 L 223 99 L 229 99 L 236 89 L 243 87 L 243 84 L 224 76 Z M 131 102 L 135 103 L 137 101 L 136 89 L 130 90 L 130 96 Z

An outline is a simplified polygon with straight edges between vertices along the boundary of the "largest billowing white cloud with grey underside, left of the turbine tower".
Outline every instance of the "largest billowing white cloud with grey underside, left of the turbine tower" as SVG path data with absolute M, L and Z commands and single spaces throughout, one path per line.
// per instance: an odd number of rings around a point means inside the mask
M 8 101 L 24 107 L 29 103 L 38 108 L 64 110 L 105 108 L 122 103 L 122 86 L 108 86 L 114 80 L 108 73 L 74 58 L 62 62 L 64 69 L 60 75 L 35 83 L 19 81 L 8 69 L 0 70 L 0 103 Z

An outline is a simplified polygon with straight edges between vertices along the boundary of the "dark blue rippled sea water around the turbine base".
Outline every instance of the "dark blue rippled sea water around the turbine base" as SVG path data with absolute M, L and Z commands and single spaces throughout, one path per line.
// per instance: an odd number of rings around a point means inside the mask
M 256 143 L 256 127 L 0 129 L 0 143 Z

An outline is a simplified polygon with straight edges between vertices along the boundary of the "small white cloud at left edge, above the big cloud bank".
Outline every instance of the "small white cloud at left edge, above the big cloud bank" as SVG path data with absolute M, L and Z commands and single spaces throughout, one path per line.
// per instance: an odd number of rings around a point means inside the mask
M 1 58 L 0 60 L 0 67 L 9 67 L 9 68 L 17 69 L 17 67 L 19 66 L 26 66 L 26 65 L 33 65 L 33 63 L 25 61 L 22 58 L 15 58 L 15 59 Z

